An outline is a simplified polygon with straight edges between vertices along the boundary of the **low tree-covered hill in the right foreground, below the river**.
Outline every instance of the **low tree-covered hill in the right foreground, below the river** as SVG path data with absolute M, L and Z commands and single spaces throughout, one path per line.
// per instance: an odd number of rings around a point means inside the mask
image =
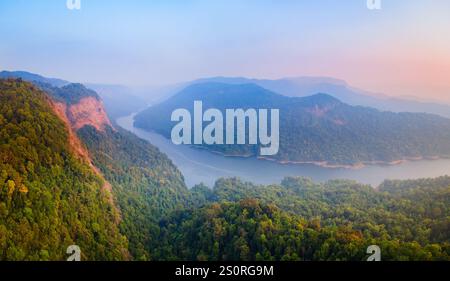
M 160 223 L 155 258 L 173 260 L 450 260 L 450 177 L 260 186 L 221 179 L 192 190 L 194 208 Z

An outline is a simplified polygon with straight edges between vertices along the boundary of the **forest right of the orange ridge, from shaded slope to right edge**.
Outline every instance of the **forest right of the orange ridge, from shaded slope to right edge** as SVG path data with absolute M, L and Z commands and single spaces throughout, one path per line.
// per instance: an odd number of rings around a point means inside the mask
M 449 259 L 450 177 L 386 181 L 377 189 L 346 180 L 286 178 L 264 186 L 220 179 L 212 189 L 187 190 L 165 157 L 153 162 L 148 143 L 120 148 L 106 137 L 112 131 L 99 136 L 86 127 L 80 134 L 115 186 L 139 259 L 364 260 L 372 244 L 385 260 Z M 125 147 L 139 153 L 126 160 Z M 151 176 L 160 165 L 172 171 L 162 188 Z M 133 172 L 117 173 L 130 166 Z

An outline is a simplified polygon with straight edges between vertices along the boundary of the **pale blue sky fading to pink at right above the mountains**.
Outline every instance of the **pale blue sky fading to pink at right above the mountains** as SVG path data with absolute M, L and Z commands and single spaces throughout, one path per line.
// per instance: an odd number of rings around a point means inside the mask
M 164 85 L 327 76 L 450 103 L 450 1 L 0 0 L 0 69 Z

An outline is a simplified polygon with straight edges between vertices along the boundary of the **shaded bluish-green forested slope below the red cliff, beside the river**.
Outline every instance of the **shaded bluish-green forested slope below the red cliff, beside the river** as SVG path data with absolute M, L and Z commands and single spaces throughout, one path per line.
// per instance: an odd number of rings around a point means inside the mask
M 152 259 L 159 220 L 188 203 L 183 176 L 156 147 L 123 130 L 100 132 L 85 126 L 78 135 L 112 185 L 131 254 L 138 260 Z

